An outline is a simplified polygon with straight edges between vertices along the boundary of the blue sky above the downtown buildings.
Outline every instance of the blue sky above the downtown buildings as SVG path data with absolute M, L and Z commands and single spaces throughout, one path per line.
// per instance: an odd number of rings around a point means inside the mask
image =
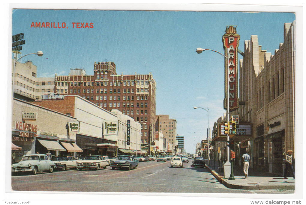
M 43 51 L 43 57 L 26 56 L 37 65 L 37 77 L 68 75 L 70 68 L 93 74 L 95 61 L 116 64 L 117 74 L 148 74 L 157 85 L 156 114 L 177 119 L 177 134 L 185 136 L 185 149 L 206 139 L 209 125 L 223 115 L 224 59 L 196 48 L 224 52 L 222 35 L 227 25 L 237 25 L 241 51 L 244 41 L 258 35 L 262 49 L 274 54 L 283 42 L 284 23 L 293 13 L 98 11 L 14 9 L 12 34 L 24 33 L 22 54 Z M 32 22 L 62 22 L 63 28 L 31 28 Z M 93 28 L 73 28 L 72 22 L 93 23 Z M 238 56 L 242 58 L 242 56 Z

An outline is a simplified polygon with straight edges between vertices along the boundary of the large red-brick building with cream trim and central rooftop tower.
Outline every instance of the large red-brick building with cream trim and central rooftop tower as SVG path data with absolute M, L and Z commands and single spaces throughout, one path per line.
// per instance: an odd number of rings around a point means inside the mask
M 55 75 L 54 91 L 79 95 L 108 111 L 118 109 L 141 124 L 141 141 L 149 144 L 149 128 L 155 130 L 156 85 L 147 75 L 117 75 L 113 62 L 94 63 L 94 75 Z M 152 133 L 150 134 L 152 140 Z

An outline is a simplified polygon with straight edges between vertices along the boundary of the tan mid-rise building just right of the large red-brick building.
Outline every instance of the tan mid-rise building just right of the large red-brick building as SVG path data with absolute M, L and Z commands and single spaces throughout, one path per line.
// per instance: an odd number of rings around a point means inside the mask
M 164 137 L 175 146 L 176 119 L 169 119 L 169 115 L 156 115 L 155 131 L 162 132 Z

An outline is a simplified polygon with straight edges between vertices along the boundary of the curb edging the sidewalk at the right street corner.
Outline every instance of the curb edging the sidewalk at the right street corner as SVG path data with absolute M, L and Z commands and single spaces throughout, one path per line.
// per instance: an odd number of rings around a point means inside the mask
M 259 185 L 259 184 L 253 184 L 253 185 L 237 185 L 237 184 L 231 184 L 227 182 L 223 177 L 221 177 L 220 174 L 218 174 L 216 171 L 211 170 L 210 167 L 205 164 L 205 167 L 207 170 L 211 172 L 211 174 L 224 186 L 230 189 L 245 189 L 245 190 L 263 190 L 263 189 L 286 189 L 286 190 L 294 190 L 295 185 Z

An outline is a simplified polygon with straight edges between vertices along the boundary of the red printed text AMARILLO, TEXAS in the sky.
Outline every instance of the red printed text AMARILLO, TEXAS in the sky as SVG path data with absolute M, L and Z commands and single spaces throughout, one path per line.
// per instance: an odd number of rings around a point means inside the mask
M 72 22 L 73 28 L 93 28 L 93 23 Z M 68 28 L 65 22 L 32 22 L 31 28 Z

